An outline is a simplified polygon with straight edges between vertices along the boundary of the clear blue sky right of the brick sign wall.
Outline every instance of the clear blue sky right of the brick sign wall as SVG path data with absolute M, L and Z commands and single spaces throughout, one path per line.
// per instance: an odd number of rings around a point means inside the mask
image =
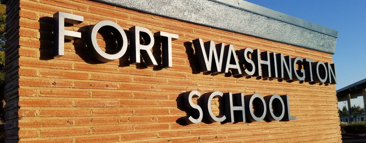
M 339 31 L 333 55 L 337 90 L 366 78 L 366 0 L 245 1 Z M 363 107 L 362 101 L 352 99 L 351 104 Z

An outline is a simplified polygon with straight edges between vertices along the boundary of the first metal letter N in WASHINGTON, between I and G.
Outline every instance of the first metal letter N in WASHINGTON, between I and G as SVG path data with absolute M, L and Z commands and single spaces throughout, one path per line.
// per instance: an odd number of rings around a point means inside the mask
M 276 54 L 277 57 L 277 68 L 279 68 L 277 71 L 280 72 L 279 75 L 281 75 L 280 78 L 283 78 L 283 80 L 292 80 L 292 70 L 291 70 L 291 56 L 283 56 L 282 53 Z M 284 69 L 286 69 L 287 72 L 284 72 Z

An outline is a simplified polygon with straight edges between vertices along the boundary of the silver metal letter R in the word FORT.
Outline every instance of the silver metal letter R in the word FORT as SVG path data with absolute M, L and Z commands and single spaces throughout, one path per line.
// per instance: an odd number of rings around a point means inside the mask
M 149 42 L 147 45 L 140 44 L 141 33 L 146 33 L 148 37 L 143 37 L 145 43 Z M 154 59 L 151 49 L 154 46 L 153 33 L 149 29 L 144 27 L 134 26 L 130 28 L 130 63 L 138 64 L 140 63 L 140 54 L 145 61 L 147 67 L 157 66 L 157 62 Z

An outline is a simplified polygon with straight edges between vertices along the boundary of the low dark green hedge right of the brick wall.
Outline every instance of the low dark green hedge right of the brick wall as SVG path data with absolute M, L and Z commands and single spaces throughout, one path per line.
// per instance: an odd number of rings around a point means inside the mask
M 341 124 L 341 131 L 346 133 L 365 134 L 366 122 L 356 122 L 349 124 Z

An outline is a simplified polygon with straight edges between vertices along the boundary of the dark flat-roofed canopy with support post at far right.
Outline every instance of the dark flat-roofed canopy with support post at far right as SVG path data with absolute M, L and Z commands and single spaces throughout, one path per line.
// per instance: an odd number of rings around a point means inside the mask
M 337 92 L 338 102 L 347 101 L 348 105 L 348 115 L 350 121 L 353 121 L 352 111 L 351 111 L 351 99 L 363 96 L 363 104 L 366 107 L 366 79 L 355 82 L 349 86 L 339 89 Z M 366 113 L 366 111 L 365 111 Z

